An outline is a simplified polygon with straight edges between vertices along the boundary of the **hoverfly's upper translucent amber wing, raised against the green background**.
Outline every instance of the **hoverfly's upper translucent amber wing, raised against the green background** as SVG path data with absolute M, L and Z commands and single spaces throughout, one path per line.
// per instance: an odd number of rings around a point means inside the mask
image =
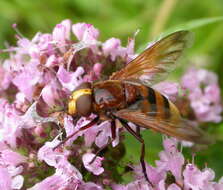
M 123 69 L 112 74 L 111 80 L 139 80 L 153 85 L 163 80 L 176 67 L 176 61 L 188 47 L 192 33 L 178 31 L 155 42 Z

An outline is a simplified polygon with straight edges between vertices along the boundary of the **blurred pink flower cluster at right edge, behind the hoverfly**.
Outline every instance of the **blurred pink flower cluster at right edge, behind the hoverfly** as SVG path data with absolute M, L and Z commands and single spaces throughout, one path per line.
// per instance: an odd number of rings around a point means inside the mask
M 200 122 L 222 120 L 221 96 L 217 76 L 204 69 L 190 69 L 182 77 L 182 87 L 188 97 L 196 118 Z

